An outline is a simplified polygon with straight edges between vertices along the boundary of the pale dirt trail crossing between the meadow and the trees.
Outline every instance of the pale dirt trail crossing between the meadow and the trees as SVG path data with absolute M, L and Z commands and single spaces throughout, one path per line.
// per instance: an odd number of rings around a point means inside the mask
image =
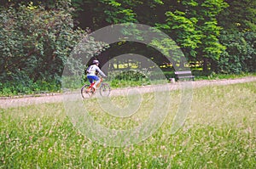
M 229 84 L 255 82 L 255 81 L 256 81 L 256 76 L 248 76 L 248 77 L 236 78 L 236 79 L 195 81 L 195 82 L 191 82 L 191 84 L 193 85 L 193 88 L 196 88 L 196 87 L 204 87 L 204 86 L 210 86 L 210 85 L 229 85 Z M 111 91 L 111 94 L 119 95 L 131 89 L 137 89 L 141 93 L 147 93 L 147 92 L 152 92 L 152 87 L 156 87 L 156 88 L 168 87 L 170 90 L 177 90 L 181 87 L 181 84 L 182 82 L 175 82 L 175 83 L 168 83 L 166 85 L 162 85 L 158 87 L 145 86 L 145 87 L 129 87 L 129 88 L 122 88 L 122 89 L 113 89 Z M 57 103 L 57 102 L 62 102 L 62 99 L 63 99 L 63 95 L 59 93 L 46 94 L 39 97 L 25 96 L 22 98 L 0 98 L 0 108 L 24 106 L 29 104 Z

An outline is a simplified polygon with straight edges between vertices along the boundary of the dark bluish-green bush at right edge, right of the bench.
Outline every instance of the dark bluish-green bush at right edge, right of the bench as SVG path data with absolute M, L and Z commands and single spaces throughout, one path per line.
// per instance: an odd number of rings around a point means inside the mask
M 255 32 L 223 32 L 219 38 L 227 47 L 218 60 L 219 72 L 239 74 L 256 70 Z

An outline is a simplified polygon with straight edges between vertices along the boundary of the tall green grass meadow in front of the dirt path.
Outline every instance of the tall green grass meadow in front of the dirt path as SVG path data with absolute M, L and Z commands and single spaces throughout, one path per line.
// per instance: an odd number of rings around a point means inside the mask
M 90 141 L 73 127 L 62 104 L 0 110 L 0 168 L 256 168 L 256 82 L 194 89 L 185 125 L 169 135 L 180 93 L 151 137 L 113 148 Z M 151 97 L 151 98 L 150 98 Z M 117 119 L 91 108 L 107 127 L 134 127 L 143 121 L 154 97 L 143 95 L 138 115 Z M 125 106 L 127 100 L 113 98 Z M 90 100 L 84 105 L 96 104 Z

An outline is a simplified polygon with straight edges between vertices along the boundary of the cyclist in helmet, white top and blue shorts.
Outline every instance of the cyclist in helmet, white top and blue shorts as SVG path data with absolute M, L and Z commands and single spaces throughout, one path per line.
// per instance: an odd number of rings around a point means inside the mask
M 87 78 L 91 83 L 96 81 L 96 83 L 92 86 L 93 92 L 95 92 L 97 85 L 101 82 L 101 79 L 97 76 L 98 73 L 100 73 L 101 76 L 107 77 L 103 71 L 99 68 L 100 62 L 99 60 L 93 60 L 92 65 L 90 65 L 86 72 L 87 72 Z

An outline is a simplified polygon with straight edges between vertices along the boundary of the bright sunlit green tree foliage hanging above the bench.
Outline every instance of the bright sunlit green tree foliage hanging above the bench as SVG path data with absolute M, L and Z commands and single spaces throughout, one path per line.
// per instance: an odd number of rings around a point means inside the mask
M 156 24 L 182 48 L 189 61 L 218 60 L 225 47 L 218 42 L 218 14 L 228 6 L 219 1 L 181 1 L 166 9 L 164 23 Z M 204 71 L 207 70 L 207 62 Z

